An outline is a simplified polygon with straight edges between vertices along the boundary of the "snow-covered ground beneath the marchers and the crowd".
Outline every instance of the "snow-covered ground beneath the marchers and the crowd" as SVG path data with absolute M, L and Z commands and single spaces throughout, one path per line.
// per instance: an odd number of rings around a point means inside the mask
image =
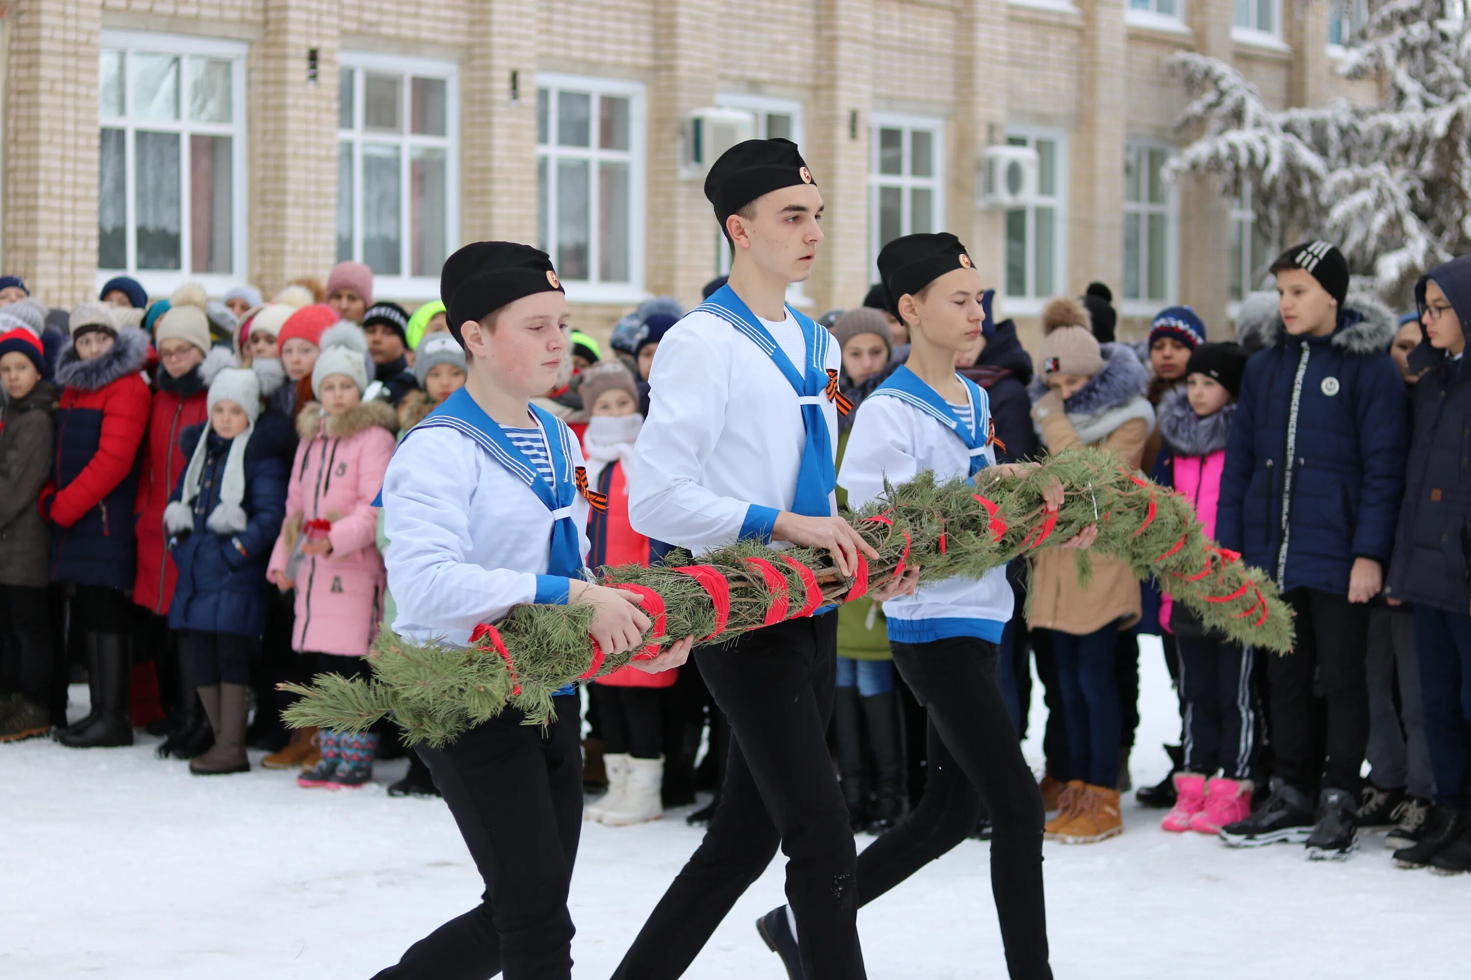
M 1143 654 L 1134 782 L 1168 767 L 1174 695 Z M 85 696 L 85 689 L 81 689 Z M 1039 688 L 1040 696 L 1040 688 Z M 1040 729 L 1040 702 L 1033 714 Z M 438 801 L 390 799 L 405 763 L 360 792 L 291 774 L 194 779 L 131 749 L 0 745 L 0 977 L 168 980 L 371 977 L 481 890 Z M 1040 767 L 1040 749 L 1027 745 Z M 1234 974 L 1471 976 L 1471 876 L 1400 871 L 1378 837 L 1343 864 L 1302 848 L 1228 851 L 1159 830 L 1047 843 L 1059 980 Z M 587 824 L 572 883 L 575 976 L 606 977 L 699 843 L 684 811 L 630 829 Z M 868 837 L 861 839 L 861 845 Z M 859 915 L 871 977 L 1002 977 L 987 845 L 969 840 Z M 736 905 L 690 977 L 783 977 L 752 923 L 783 901 L 781 857 Z

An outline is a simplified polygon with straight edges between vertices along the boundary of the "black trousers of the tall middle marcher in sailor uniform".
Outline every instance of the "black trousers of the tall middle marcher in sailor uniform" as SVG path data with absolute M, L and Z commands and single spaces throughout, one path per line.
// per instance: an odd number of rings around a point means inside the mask
M 837 614 L 768 626 L 694 655 L 731 726 L 721 802 L 613 977 L 683 976 L 780 843 L 806 977 L 863 980 L 853 833 L 827 748 Z

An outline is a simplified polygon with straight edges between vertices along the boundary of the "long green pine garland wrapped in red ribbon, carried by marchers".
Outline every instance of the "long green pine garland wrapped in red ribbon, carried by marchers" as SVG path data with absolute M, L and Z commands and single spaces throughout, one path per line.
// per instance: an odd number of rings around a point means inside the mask
M 1047 514 L 1041 488 L 1053 479 L 1066 497 L 1058 513 Z M 675 551 L 650 567 L 608 567 L 603 582 L 638 592 L 655 619 L 643 651 L 603 657 L 588 638 L 593 611 L 585 605 L 518 605 L 502 621 L 482 624 L 468 648 L 418 645 L 385 627 L 369 655 L 371 680 L 319 674 L 309 688 L 282 685 L 302 695 L 287 708 L 287 723 L 360 732 L 393 717 L 412 741 L 431 745 L 453 741 L 507 704 L 521 708 L 528 723 L 541 723 L 559 688 L 652 657 L 672 638 L 727 642 L 858 598 L 906 566 L 919 566 L 921 583 L 978 579 L 1094 523 L 1093 551 L 1122 560 L 1140 577 L 1152 576 L 1205 626 L 1250 646 L 1292 648 L 1292 611 L 1272 580 L 1206 538 L 1186 498 L 1121 467 L 1106 450 L 1068 450 L 1024 476 L 983 470 L 974 485 L 937 483 L 921 473 L 849 520 L 880 555 L 856 577 L 841 576 L 825 552 L 774 551 L 755 542 L 706 552 L 699 564 Z M 1078 552 L 1083 582 L 1091 574 L 1089 554 Z

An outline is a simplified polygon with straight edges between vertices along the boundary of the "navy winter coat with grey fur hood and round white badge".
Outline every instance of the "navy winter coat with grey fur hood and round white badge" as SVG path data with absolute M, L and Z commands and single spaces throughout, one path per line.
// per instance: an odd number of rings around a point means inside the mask
M 1272 317 L 1246 364 L 1217 538 L 1284 589 L 1347 595 L 1355 558 L 1389 567 L 1409 435 L 1393 336 L 1387 309 L 1350 295 L 1328 336 Z

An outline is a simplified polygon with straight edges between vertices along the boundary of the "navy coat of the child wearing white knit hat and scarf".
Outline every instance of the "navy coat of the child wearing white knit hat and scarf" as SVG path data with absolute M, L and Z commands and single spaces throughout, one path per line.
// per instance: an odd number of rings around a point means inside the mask
M 206 525 L 219 504 L 229 455 L 229 442 L 213 430 L 204 435 L 206 426 L 191 426 L 179 438 L 185 460 L 193 458 L 202 435 L 209 439 L 209 455 L 199 497 L 194 498 L 194 529 L 169 539 L 169 552 L 179 573 L 169 605 L 169 629 L 260 636 L 265 630 L 266 589 L 271 588 L 266 563 L 285 519 L 291 423 L 274 411 L 256 420 L 246 447 L 246 495 L 240 502 L 247 523 L 234 535 L 218 535 Z M 187 469 L 179 475 L 171 501 L 181 500 L 185 475 Z

